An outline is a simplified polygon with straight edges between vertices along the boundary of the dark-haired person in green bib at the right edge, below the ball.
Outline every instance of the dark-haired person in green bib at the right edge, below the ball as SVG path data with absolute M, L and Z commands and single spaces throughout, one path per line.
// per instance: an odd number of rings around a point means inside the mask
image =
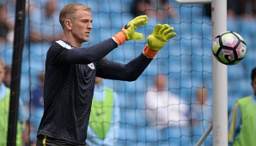
M 229 145 L 255 145 L 256 67 L 251 72 L 253 93 L 235 102 L 229 114 Z

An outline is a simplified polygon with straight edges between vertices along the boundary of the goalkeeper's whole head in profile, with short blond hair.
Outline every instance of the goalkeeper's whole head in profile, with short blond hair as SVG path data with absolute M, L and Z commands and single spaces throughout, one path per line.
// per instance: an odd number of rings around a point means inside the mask
M 59 22 L 64 29 L 64 40 L 74 46 L 88 41 L 92 26 L 91 9 L 82 3 L 70 3 L 60 11 Z

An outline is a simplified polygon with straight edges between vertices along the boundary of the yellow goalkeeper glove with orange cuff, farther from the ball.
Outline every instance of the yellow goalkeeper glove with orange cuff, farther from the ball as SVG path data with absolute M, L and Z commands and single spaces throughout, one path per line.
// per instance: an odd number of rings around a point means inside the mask
M 143 26 L 148 23 L 147 15 L 140 15 L 130 20 L 120 32 L 116 33 L 113 38 L 117 42 L 117 44 L 123 44 L 125 40 L 136 39 L 140 40 L 143 38 L 143 34 L 139 32 L 135 32 L 137 26 Z

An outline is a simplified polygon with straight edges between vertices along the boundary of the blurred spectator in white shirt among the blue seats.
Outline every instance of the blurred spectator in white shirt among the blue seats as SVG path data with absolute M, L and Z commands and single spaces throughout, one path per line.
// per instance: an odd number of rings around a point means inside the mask
M 157 141 L 166 141 L 174 146 L 187 145 L 189 107 L 180 96 L 168 91 L 168 77 L 164 74 L 155 76 L 155 85 L 146 92 L 146 118 L 149 126 L 156 127 Z M 152 133 L 151 133 L 152 134 Z

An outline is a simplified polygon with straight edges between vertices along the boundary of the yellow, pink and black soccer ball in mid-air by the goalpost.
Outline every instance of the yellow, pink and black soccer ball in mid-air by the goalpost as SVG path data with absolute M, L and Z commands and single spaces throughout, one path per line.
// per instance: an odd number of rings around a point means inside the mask
M 217 61 L 225 65 L 235 65 L 247 54 L 247 44 L 236 32 L 222 32 L 212 42 L 212 53 Z

